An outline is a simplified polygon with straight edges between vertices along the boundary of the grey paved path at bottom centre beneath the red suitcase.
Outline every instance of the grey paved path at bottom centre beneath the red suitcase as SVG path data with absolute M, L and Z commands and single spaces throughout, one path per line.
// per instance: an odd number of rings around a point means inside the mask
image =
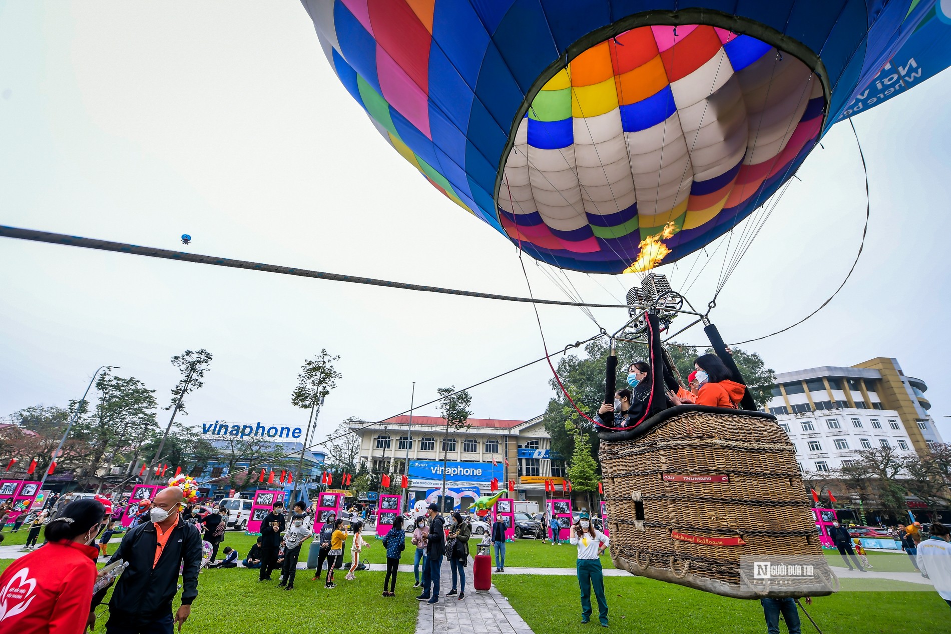
M 400 566 L 402 568 L 402 566 Z M 410 566 L 412 573 L 413 567 Z M 473 561 L 466 567 L 466 598 L 446 597 L 453 587 L 449 563 L 442 561 L 439 603 L 419 602 L 417 634 L 534 634 L 508 600 L 492 586 L 488 594 L 478 594 L 472 586 Z

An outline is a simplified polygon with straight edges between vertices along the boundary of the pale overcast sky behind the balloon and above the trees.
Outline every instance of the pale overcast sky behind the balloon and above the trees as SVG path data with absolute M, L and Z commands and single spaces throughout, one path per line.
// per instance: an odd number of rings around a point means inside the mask
M 0 222 L 359 276 L 525 295 L 513 245 L 385 144 L 295 0 L 0 2 Z M 855 120 L 871 180 L 862 259 L 843 292 L 747 346 L 777 372 L 897 357 L 951 439 L 947 351 L 951 74 Z M 847 124 L 825 136 L 711 314 L 728 341 L 804 317 L 858 249 L 864 181 Z M 742 230 L 742 226 L 741 229 Z M 739 231 L 739 230 L 738 230 Z M 179 236 L 193 237 L 184 247 Z M 943 246 L 942 246 L 943 245 Z M 709 248 L 708 251 L 712 251 Z M 688 297 L 705 306 L 724 249 Z M 694 258 L 662 271 L 681 286 Z M 694 271 L 707 261 L 700 256 Z M 565 298 L 529 260 L 537 296 Z M 553 271 L 552 269 L 549 269 Z M 340 355 L 320 432 L 379 419 L 542 355 L 527 304 L 451 298 L 0 239 L 0 413 L 79 398 L 122 366 L 165 404 L 168 359 L 214 355 L 184 422 L 303 424 L 301 362 Z M 569 273 L 583 298 L 631 276 Z M 609 330 L 622 311 L 594 311 Z M 550 348 L 597 332 L 545 307 Z M 701 343 L 700 331 L 681 340 Z M 478 417 L 525 419 L 544 364 L 473 391 Z M 434 407 L 419 413 L 436 413 Z M 165 413 L 161 414 L 164 417 Z

